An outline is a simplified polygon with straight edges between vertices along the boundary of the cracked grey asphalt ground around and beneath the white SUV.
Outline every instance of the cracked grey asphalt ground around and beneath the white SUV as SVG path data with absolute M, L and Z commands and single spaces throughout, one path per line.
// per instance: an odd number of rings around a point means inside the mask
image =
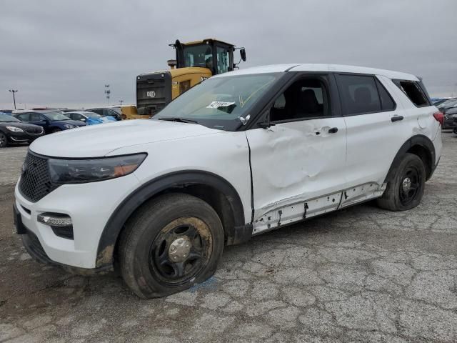
M 216 275 L 166 299 L 29 258 L 13 232 L 26 147 L 0 151 L 0 341 L 457 342 L 457 136 L 419 207 L 373 204 L 226 247 Z

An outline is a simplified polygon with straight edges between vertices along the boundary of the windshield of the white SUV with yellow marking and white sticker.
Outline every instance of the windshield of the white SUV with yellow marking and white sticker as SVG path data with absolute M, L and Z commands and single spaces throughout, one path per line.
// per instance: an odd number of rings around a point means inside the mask
M 214 129 L 234 131 L 253 104 L 282 75 L 251 74 L 207 79 L 171 101 L 153 119 L 188 119 Z

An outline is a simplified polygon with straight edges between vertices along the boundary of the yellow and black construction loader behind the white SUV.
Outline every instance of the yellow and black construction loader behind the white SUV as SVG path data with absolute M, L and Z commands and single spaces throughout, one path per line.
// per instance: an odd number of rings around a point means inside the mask
M 203 39 L 169 44 L 176 59 L 167 61 L 170 69 L 136 76 L 136 107 L 141 117 L 151 117 L 171 100 L 209 77 L 238 68 L 246 61 L 244 48 L 217 39 Z M 240 50 L 241 59 L 233 62 L 233 51 Z

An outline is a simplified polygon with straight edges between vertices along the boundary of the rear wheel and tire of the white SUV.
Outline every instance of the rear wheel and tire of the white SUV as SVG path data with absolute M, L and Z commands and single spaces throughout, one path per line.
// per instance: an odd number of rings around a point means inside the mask
M 389 172 L 386 191 L 378 199 L 378 206 L 391 211 L 413 209 L 421 203 L 425 183 L 423 161 L 414 154 L 406 153 L 398 166 Z

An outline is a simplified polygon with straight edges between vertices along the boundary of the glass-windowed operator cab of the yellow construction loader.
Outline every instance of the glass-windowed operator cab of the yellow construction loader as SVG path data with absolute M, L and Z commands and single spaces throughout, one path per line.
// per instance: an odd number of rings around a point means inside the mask
M 185 44 L 176 40 L 175 44 L 170 45 L 176 49 L 177 68 L 206 68 L 212 75 L 233 70 L 233 44 L 216 39 L 204 39 Z

